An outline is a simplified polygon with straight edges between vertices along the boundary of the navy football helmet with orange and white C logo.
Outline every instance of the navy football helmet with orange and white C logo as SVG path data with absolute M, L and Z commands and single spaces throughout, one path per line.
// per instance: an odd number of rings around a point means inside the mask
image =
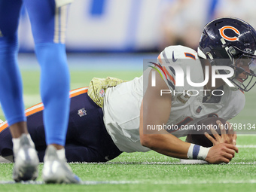
M 230 66 L 234 69 L 229 80 L 234 90 L 251 90 L 256 84 L 256 31 L 243 20 L 234 17 L 222 17 L 206 24 L 200 38 L 198 56 L 209 59 L 212 66 Z M 246 64 L 247 70 L 239 64 Z M 238 66 L 239 64 L 239 66 Z M 229 71 L 218 70 L 220 74 Z M 237 80 L 244 73 L 244 79 Z

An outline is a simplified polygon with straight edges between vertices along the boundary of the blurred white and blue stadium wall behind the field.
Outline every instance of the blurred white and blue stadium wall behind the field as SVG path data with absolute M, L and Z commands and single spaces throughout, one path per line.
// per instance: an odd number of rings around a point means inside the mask
M 197 47 L 203 26 L 239 17 L 256 26 L 254 0 L 75 0 L 69 12 L 68 52 L 148 52 L 172 44 Z M 33 51 L 26 10 L 20 51 Z

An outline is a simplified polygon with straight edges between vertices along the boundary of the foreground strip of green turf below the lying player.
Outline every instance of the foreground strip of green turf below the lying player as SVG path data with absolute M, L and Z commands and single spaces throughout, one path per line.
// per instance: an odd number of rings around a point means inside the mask
M 46 185 L 41 177 L 10 184 L 13 164 L 0 164 L 0 191 L 254 191 L 255 137 L 240 136 L 238 145 L 239 154 L 228 165 L 181 165 L 153 151 L 121 154 L 108 163 L 72 163 L 82 185 Z

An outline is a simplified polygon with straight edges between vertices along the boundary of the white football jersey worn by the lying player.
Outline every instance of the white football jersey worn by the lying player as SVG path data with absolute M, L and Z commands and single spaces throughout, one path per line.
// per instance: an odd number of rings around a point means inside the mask
M 195 87 L 187 83 L 188 75 L 194 83 L 204 81 L 203 69 L 195 50 L 183 46 L 166 47 L 158 56 L 158 63 L 154 67 L 157 66 L 162 67 L 163 70 L 159 69 L 159 72 L 172 93 L 172 108 L 166 126 L 172 127 L 167 131 L 174 136 L 187 136 L 190 125 L 198 120 L 212 116 L 230 120 L 244 108 L 245 96 L 240 90 L 232 91 L 224 85 L 222 96 L 212 96 L 206 100 L 203 86 Z M 106 91 L 103 106 L 105 127 L 120 151 L 150 150 L 140 143 L 139 114 L 145 93 L 143 87 L 148 87 L 151 69 L 148 67 L 140 78 Z M 187 73 L 187 70 L 190 72 Z M 214 94 L 221 95 L 217 92 Z

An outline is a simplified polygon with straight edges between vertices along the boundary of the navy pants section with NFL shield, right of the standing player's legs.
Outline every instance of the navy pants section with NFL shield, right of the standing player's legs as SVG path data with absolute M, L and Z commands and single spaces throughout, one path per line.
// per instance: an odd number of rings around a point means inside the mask
M 69 125 L 75 129 L 69 129 L 67 134 L 69 161 L 105 162 L 121 154 L 105 129 L 102 108 L 87 93 L 72 98 Z

